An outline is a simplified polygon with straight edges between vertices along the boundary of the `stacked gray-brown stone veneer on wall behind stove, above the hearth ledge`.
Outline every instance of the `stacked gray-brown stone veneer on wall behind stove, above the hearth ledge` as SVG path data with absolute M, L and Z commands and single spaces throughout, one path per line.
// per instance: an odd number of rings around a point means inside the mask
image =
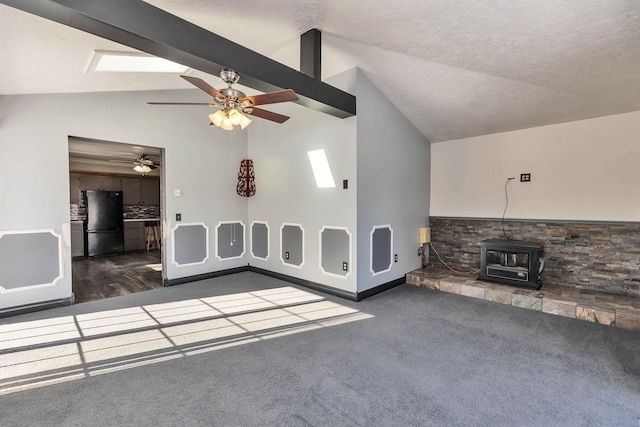
M 479 242 L 504 237 L 500 219 L 431 217 L 430 226 L 442 259 L 474 271 Z M 544 246 L 543 289 L 551 284 L 640 299 L 640 223 L 505 220 L 504 231 Z M 433 250 L 429 261 L 439 264 Z

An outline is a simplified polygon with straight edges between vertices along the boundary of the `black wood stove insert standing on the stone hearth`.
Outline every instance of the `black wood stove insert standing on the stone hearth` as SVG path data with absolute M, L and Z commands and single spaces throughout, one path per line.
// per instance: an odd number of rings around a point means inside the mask
M 544 248 L 534 242 L 488 239 L 480 242 L 478 280 L 540 289 Z

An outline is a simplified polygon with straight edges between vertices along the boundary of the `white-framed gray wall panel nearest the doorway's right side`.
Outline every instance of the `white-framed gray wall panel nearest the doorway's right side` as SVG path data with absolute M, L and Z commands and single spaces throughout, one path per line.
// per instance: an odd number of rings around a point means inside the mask
M 201 265 L 209 259 L 209 227 L 203 222 L 178 224 L 171 230 L 171 262 L 176 267 Z

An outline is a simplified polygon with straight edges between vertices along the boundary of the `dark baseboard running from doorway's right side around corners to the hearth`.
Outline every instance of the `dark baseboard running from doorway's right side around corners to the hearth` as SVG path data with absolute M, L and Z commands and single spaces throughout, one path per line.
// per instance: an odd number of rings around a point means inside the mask
M 343 291 L 342 289 L 334 288 L 332 286 L 323 285 L 322 283 L 312 282 L 310 280 L 300 279 L 298 277 L 288 276 L 282 273 L 276 273 L 274 271 L 253 267 L 251 265 L 247 265 L 244 267 L 230 268 L 228 270 L 214 271 L 211 273 L 197 274 L 195 276 L 180 277 L 178 279 L 167 279 L 165 277 L 162 279 L 162 283 L 163 283 L 163 286 L 165 287 L 182 285 L 184 283 L 197 282 L 198 280 L 211 279 L 214 277 L 226 276 L 228 274 L 242 273 L 244 271 L 251 271 L 253 273 L 262 274 L 264 276 L 269 276 L 275 279 L 284 280 L 285 282 L 293 283 L 294 285 L 300 285 L 305 288 L 324 292 L 329 295 L 335 295 L 337 297 L 348 299 L 351 301 L 356 301 L 356 302 L 362 301 L 365 298 L 372 297 L 381 292 L 388 291 L 391 288 L 395 288 L 396 286 L 406 283 L 406 276 L 404 276 L 404 277 L 400 277 L 399 279 L 392 280 L 387 283 L 383 283 L 371 289 L 367 289 L 366 291 L 349 292 L 349 291 Z

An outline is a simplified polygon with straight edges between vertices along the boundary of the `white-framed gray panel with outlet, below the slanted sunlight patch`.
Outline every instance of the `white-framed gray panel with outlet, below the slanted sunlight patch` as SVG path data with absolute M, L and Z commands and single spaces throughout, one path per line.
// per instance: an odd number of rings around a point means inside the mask
M 320 269 L 327 276 L 346 279 L 353 271 L 352 234 L 347 227 L 324 225 L 319 231 Z M 347 263 L 347 270 L 343 263 Z

